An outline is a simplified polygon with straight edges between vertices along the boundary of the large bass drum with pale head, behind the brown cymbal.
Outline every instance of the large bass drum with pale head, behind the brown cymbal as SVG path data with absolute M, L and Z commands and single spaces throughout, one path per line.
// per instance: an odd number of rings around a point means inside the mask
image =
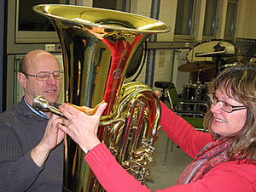
M 215 47 L 215 48 L 214 48 Z M 216 48 L 218 47 L 218 48 Z M 235 48 L 235 44 L 233 42 L 230 42 L 228 40 L 224 39 L 212 39 L 207 40 L 205 42 L 200 42 L 196 44 L 193 48 L 189 49 L 189 52 L 186 54 L 186 59 L 189 64 L 191 65 L 200 65 L 202 64 L 208 64 L 210 65 L 210 68 L 201 68 L 200 73 L 198 71 L 192 71 L 191 72 L 191 78 L 192 82 L 211 82 L 212 79 L 215 78 L 215 69 L 216 69 L 216 58 L 215 57 L 196 57 L 195 54 L 199 53 L 212 53 L 214 51 L 218 51 L 219 48 L 225 48 L 225 47 L 233 47 Z M 235 48 L 235 54 L 237 53 Z M 238 58 L 237 56 L 234 57 L 227 57 L 222 58 L 220 65 L 227 65 L 227 64 L 233 64 L 234 62 L 237 62 L 238 60 L 241 60 L 241 58 Z M 200 74 L 200 76 L 198 76 Z

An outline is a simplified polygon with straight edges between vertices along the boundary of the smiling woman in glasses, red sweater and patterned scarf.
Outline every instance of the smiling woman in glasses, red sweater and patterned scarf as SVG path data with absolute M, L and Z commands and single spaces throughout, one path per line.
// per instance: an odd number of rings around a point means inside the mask
M 196 131 L 183 118 L 161 103 L 160 125 L 184 152 L 195 158 L 163 191 L 255 191 L 256 190 L 256 66 L 237 65 L 219 74 L 209 87 L 211 109 L 205 126 Z M 96 137 L 99 118 L 106 104 L 94 116 L 86 116 L 68 104 L 60 107 L 69 121 L 59 124 L 85 153 L 96 178 L 107 191 L 150 191 L 115 161 Z M 170 173 L 172 174 L 172 172 Z

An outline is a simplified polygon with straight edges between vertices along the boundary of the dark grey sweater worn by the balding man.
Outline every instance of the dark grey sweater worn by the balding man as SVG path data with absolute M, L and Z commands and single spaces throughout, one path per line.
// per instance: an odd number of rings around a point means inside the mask
M 31 157 L 48 121 L 36 115 L 24 98 L 0 115 L 0 191 L 61 192 L 63 142 L 49 153 L 43 167 Z

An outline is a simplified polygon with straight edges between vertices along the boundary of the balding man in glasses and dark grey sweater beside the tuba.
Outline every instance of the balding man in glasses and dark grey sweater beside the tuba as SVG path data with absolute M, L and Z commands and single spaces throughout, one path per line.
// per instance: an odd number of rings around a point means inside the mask
M 61 191 L 64 133 L 56 124 L 62 120 L 34 110 L 32 101 L 42 95 L 57 107 L 62 77 L 57 59 L 44 50 L 20 60 L 25 95 L 0 115 L 0 191 Z

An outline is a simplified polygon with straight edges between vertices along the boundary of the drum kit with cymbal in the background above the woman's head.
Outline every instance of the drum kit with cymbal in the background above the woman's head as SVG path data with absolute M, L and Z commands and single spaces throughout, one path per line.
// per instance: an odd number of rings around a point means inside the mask
M 189 83 L 183 85 L 182 100 L 207 101 L 207 85 L 221 71 L 240 64 L 241 54 L 227 40 L 207 40 L 189 49 L 187 63 L 178 71 L 190 72 Z

